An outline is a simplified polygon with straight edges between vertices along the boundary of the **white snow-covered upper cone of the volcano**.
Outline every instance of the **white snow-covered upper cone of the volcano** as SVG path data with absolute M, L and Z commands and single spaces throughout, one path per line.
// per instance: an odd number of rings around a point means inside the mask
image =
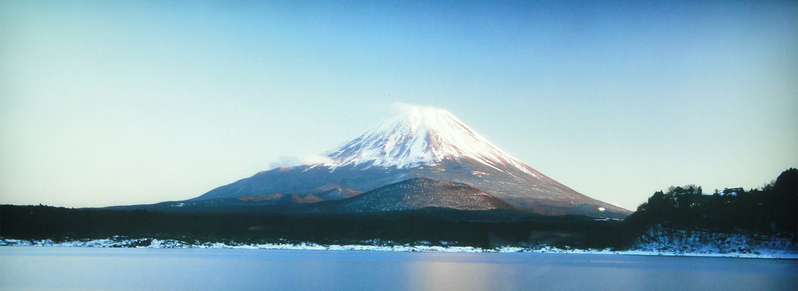
M 412 168 L 470 158 L 501 171 L 529 167 L 500 150 L 444 109 L 413 107 L 339 148 L 324 153 L 332 168 L 347 165 Z

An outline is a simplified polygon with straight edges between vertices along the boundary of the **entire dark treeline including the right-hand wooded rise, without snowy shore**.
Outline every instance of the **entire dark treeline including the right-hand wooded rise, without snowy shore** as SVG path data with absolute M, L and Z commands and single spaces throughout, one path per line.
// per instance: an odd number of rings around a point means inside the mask
M 543 216 L 508 210 L 417 211 L 366 214 L 292 214 L 69 209 L 0 205 L 0 237 L 11 239 L 177 239 L 194 242 L 396 244 L 427 241 L 483 248 L 535 246 L 628 247 L 647 227 L 796 238 L 798 170 L 784 171 L 761 189 L 700 187 L 654 193 L 625 221 Z

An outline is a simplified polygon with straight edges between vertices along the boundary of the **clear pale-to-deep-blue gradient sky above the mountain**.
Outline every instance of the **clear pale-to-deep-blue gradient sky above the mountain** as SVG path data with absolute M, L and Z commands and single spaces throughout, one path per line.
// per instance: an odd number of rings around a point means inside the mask
M 631 210 L 798 167 L 796 1 L 198 2 L 0 2 L 0 203 L 193 198 L 400 103 Z

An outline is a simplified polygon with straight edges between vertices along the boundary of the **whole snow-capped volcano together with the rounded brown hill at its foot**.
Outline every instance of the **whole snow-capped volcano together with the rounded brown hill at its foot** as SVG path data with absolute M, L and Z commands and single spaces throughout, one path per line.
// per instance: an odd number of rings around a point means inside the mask
M 339 205 L 339 211 L 348 212 L 498 207 L 609 218 L 631 213 L 543 175 L 438 108 L 414 107 L 323 156 L 325 162 L 259 172 L 188 201 L 318 203 L 327 206 L 314 209 Z M 358 206 L 367 204 L 371 206 Z

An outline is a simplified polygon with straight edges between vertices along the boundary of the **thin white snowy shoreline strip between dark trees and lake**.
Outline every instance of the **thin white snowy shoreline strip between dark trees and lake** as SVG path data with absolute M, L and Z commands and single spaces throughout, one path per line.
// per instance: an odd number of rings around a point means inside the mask
M 376 243 L 376 242 L 364 242 Z M 438 252 L 438 253 L 541 253 L 541 254 L 599 254 L 599 255 L 643 255 L 643 256 L 680 256 L 680 257 L 723 257 L 723 258 L 754 258 L 754 259 L 798 259 L 798 253 L 792 250 L 758 250 L 746 252 L 715 252 L 712 250 L 701 250 L 695 252 L 680 251 L 675 248 L 639 248 L 632 250 L 611 250 L 611 249 L 575 249 L 558 248 L 543 246 L 538 248 L 523 247 L 497 247 L 483 249 L 469 246 L 433 246 L 426 242 L 411 245 L 376 245 L 376 244 L 347 244 L 347 245 L 319 245 L 315 243 L 268 243 L 268 244 L 242 244 L 230 243 L 187 243 L 173 239 L 127 239 L 127 238 L 107 238 L 107 239 L 83 239 L 63 242 L 54 242 L 50 239 L 44 240 L 18 240 L 0 238 L 0 246 L 23 246 L 23 247 L 89 247 L 89 248 L 151 248 L 151 249 L 260 249 L 260 250 L 318 250 L 318 251 L 382 251 L 382 252 Z

